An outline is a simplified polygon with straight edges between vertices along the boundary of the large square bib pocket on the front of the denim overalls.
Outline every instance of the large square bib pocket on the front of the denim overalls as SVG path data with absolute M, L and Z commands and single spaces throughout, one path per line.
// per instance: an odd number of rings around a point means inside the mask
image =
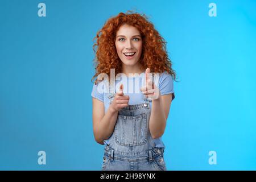
M 137 116 L 118 115 L 115 142 L 121 146 L 141 146 L 147 142 L 146 113 Z

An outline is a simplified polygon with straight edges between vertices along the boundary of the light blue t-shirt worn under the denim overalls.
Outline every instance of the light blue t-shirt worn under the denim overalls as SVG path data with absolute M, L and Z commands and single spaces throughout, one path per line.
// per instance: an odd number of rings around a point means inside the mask
M 120 84 L 123 84 L 123 94 L 130 97 L 129 105 L 141 104 L 144 103 L 144 94 L 141 92 L 141 87 L 145 85 L 145 73 L 141 73 L 141 75 L 129 76 L 127 77 L 125 74 L 120 74 L 115 77 L 115 92 L 118 92 Z M 175 98 L 174 94 L 174 82 L 172 76 L 167 72 L 154 74 L 154 83 L 158 86 L 160 90 L 160 94 L 173 94 L 172 100 Z M 101 81 L 98 82 L 97 85 L 93 84 L 93 90 L 91 96 L 97 98 L 104 102 L 105 113 L 109 108 L 109 85 L 106 82 Z M 150 107 L 152 106 L 152 102 L 150 102 Z M 161 137 L 154 139 L 156 147 L 164 147 Z M 105 144 L 108 144 L 108 140 L 104 140 Z

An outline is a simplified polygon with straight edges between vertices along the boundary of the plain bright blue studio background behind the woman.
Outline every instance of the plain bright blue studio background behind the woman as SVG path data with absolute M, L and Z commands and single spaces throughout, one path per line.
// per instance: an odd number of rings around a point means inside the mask
M 211 2 L 217 17 L 208 15 Z M 168 42 L 179 78 L 163 135 L 167 169 L 255 170 L 255 8 L 249 0 L 1 1 L 0 169 L 101 169 L 93 38 L 108 18 L 135 10 Z

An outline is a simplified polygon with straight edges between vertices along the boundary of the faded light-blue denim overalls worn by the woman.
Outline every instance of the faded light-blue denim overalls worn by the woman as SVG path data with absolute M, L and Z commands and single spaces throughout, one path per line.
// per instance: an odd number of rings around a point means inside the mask
M 110 92 L 110 104 L 115 93 Z M 151 100 L 129 105 L 118 111 L 109 144 L 106 144 L 102 170 L 151 171 L 166 170 L 164 148 L 155 147 L 149 131 Z

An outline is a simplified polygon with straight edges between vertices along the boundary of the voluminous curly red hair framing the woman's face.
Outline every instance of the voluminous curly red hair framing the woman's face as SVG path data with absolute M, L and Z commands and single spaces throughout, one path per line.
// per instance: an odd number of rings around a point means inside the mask
M 115 35 L 119 27 L 123 24 L 136 27 L 142 36 L 142 55 L 141 69 L 150 68 L 151 72 L 163 73 L 167 71 L 176 81 L 176 73 L 171 68 L 172 62 L 168 58 L 166 51 L 166 41 L 155 30 L 154 24 L 147 20 L 146 15 L 138 13 L 119 13 L 117 16 L 110 18 L 100 31 L 97 32 L 96 43 L 93 45 L 93 50 L 96 52 L 96 74 L 92 80 L 106 73 L 110 77 L 110 69 L 115 69 L 115 76 L 122 72 L 121 60 L 118 57 L 115 49 Z M 95 81 L 97 83 L 97 80 Z

